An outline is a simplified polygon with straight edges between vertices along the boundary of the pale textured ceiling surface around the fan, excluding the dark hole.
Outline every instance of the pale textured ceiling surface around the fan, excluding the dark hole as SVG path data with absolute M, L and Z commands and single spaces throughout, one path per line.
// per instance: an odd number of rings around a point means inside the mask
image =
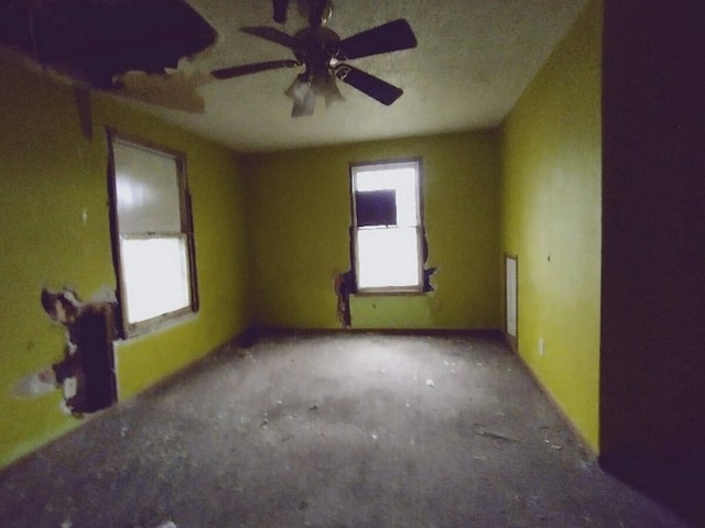
M 216 43 L 182 59 L 167 78 L 128 74 L 123 92 L 152 100 L 135 105 L 234 150 L 268 152 L 494 127 L 586 0 L 333 0 L 327 26 L 341 38 L 394 19 L 409 21 L 417 47 L 350 62 L 404 95 L 384 107 L 338 81 L 345 101 L 326 108 L 319 100 L 312 117 L 296 119 L 283 92 L 303 68 L 227 80 L 209 76 L 212 69 L 293 58 L 290 50 L 239 28 L 271 25 L 293 34 L 306 25 L 296 1 L 284 25 L 272 20 L 269 0 L 188 3 L 216 30 Z

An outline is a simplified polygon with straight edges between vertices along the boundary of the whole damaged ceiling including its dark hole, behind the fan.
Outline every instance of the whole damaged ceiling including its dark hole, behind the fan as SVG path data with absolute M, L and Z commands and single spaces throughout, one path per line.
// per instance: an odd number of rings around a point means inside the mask
M 587 3 L 330 1 L 326 28 L 341 38 L 408 21 L 416 47 L 354 66 L 402 89 L 394 105 L 340 82 L 343 99 L 292 119 L 285 92 L 301 69 L 212 75 L 292 64 L 282 42 L 310 25 L 307 0 L 0 0 L 0 59 L 10 51 L 237 152 L 272 152 L 497 127 Z

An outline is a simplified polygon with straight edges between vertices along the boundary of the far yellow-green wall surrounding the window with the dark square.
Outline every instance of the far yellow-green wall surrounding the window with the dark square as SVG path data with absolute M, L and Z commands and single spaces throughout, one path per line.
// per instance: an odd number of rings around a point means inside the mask
M 496 131 L 245 158 L 250 302 L 263 327 L 337 328 L 333 277 L 350 268 L 350 162 L 420 156 L 435 292 L 354 297 L 352 328 L 499 328 Z

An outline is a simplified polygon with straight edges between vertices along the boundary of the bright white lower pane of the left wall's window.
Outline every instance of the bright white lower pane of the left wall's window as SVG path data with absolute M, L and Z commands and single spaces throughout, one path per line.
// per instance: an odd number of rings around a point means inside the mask
M 128 323 L 187 308 L 186 237 L 120 238 Z

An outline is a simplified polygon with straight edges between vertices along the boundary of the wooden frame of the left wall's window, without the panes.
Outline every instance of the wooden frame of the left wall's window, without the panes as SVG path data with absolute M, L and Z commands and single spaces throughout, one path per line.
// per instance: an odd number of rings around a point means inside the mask
M 121 339 L 140 336 L 158 329 L 166 323 L 176 321 L 192 314 L 196 314 L 199 308 L 197 273 L 196 273 L 196 248 L 194 238 L 194 222 L 192 210 L 192 198 L 188 188 L 186 154 L 180 151 L 171 150 L 152 142 L 118 133 L 107 128 L 106 135 L 108 141 L 108 196 L 110 211 L 110 240 L 112 249 L 112 264 L 116 273 L 117 282 L 117 299 L 119 305 L 118 329 Z M 173 158 L 175 162 L 175 178 L 178 187 L 178 216 L 180 231 L 149 231 L 145 228 L 140 233 L 121 233 L 120 218 L 118 211 L 118 178 L 116 174 L 115 145 L 121 144 L 147 153 L 153 153 L 162 157 Z M 175 239 L 185 238 L 186 255 L 185 261 L 187 270 L 187 287 L 188 305 L 175 310 L 164 312 L 162 315 L 130 322 L 128 319 L 128 297 L 126 275 L 123 270 L 121 241 L 124 240 L 150 240 L 150 239 Z

